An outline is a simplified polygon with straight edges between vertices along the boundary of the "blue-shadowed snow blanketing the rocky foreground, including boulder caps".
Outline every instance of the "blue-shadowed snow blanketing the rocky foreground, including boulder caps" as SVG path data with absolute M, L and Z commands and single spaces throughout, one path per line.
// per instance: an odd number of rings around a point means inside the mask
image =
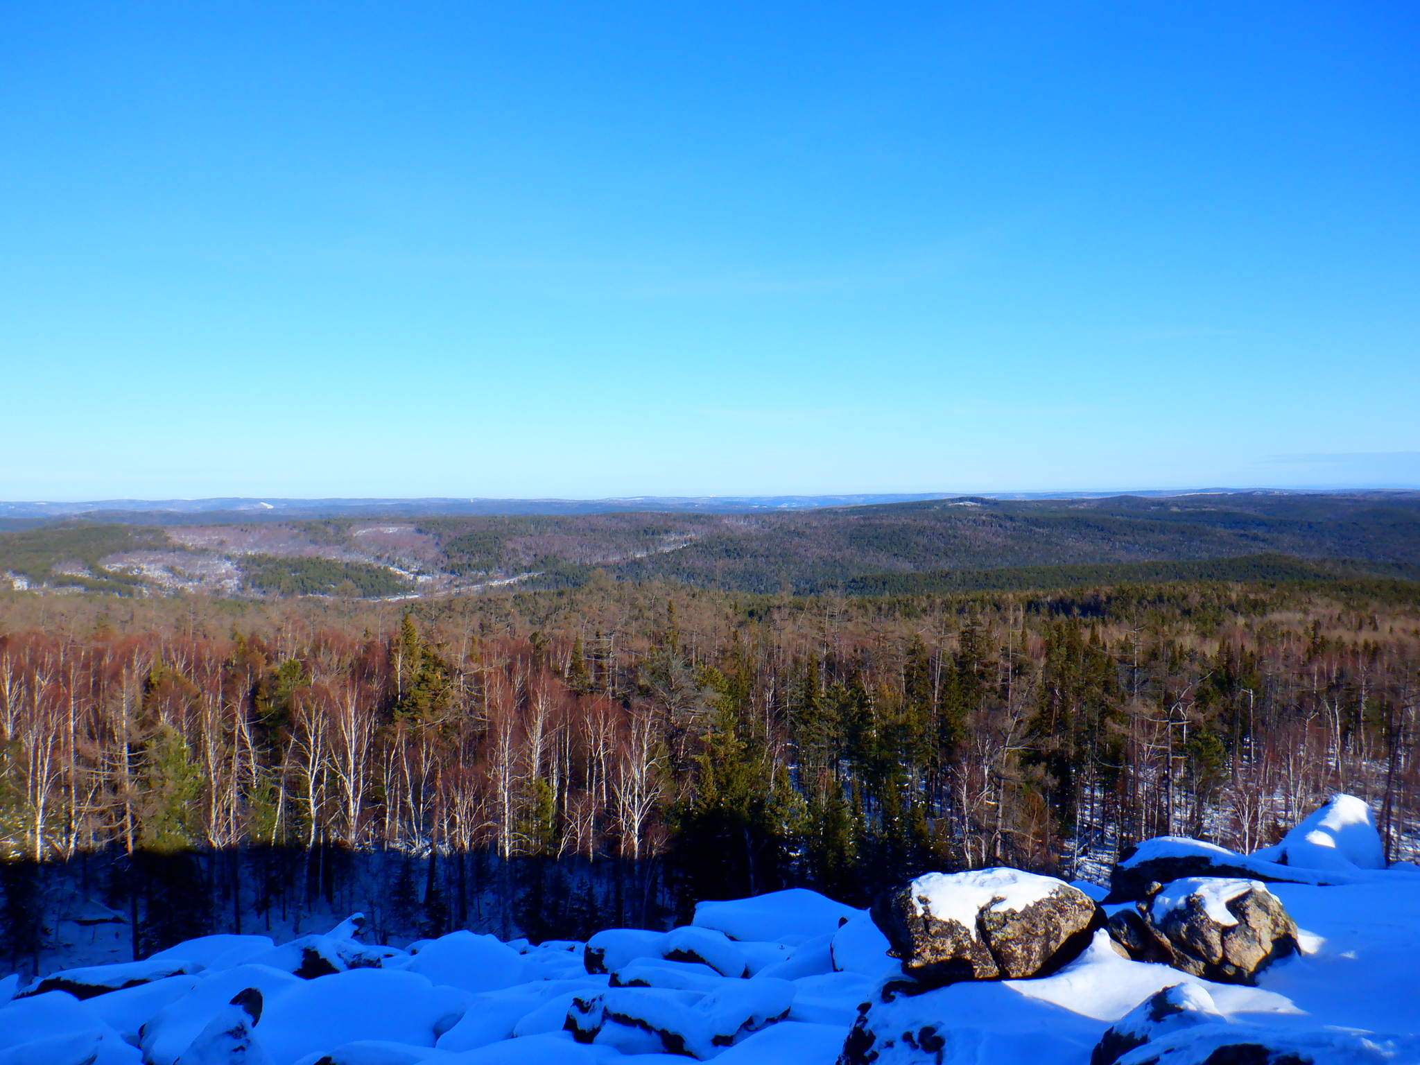
M 1049 976 L 905 993 L 868 912 L 804 889 L 585 944 L 454 932 L 402 950 L 361 943 L 352 919 L 285 944 L 206 936 L 28 987 L 0 980 L 0 1065 L 1420 1062 L 1420 869 L 1382 868 L 1363 802 L 1338 797 L 1255 856 L 1196 841 L 1140 852 L 1312 880 L 1180 879 L 1146 903 L 1163 913 L 1193 892 L 1227 927 L 1230 902 L 1265 890 L 1301 951 L 1255 985 L 1213 983 L 1129 960 L 1099 929 Z M 974 926 L 978 907 L 1024 907 L 1054 883 L 1001 870 L 927 886 L 934 910 Z M 1099 923 L 1125 910 L 1136 905 L 1103 906 Z M 1218 1049 L 1240 1044 L 1267 1049 Z

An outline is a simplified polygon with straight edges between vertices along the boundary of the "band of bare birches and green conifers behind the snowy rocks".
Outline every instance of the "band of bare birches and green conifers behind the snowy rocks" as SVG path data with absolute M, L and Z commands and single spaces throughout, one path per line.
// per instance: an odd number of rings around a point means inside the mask
M 863 903 L 926 868 L 1098 876 L 1160 834 L 1247 851 L 1336 790 L 1413 858 L 1417 650 L 1420 604 L 1316 585 L 6 595 L 0 848 L 413 855 L 444 919 L 574 865 L 595 906 L 619 869 L 623 920 L 795 883 Z M 283 890 L 329 897 L 312 868 Z

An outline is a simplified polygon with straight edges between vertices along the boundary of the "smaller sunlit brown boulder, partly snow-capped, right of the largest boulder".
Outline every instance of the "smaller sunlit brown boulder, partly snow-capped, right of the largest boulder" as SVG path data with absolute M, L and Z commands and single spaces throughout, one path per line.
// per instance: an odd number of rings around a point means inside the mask
M 1258 973 L 1298 949 L 1296 922 L 1258 880 L 1174 880 L 1139 909 L 1169 950 L 1169 964 L 1204 980 L 1254 984 Z

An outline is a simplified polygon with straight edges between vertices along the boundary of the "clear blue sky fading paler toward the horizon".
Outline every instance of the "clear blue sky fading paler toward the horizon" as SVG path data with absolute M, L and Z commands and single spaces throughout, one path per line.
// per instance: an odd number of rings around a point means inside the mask
M 0 4 L 0 498 L 1420 484 L 1420 6 Z

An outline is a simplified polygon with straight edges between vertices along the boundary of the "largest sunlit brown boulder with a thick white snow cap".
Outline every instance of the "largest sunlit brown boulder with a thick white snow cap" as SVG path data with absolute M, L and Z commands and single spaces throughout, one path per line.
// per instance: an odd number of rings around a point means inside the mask
M 1052 973 L 1103 923 L 1078 888 L 1020 869 L 926 873 L 880 899 L 872 914 L 923 990 Z

